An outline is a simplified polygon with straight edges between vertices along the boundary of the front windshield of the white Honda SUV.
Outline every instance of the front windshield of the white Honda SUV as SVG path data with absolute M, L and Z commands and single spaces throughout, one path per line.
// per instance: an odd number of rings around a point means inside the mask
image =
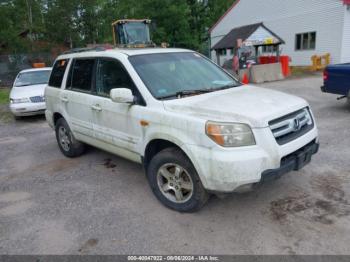
M 193 52 L 137 55 L 129 57 L 129 61 L 158 99 L 240 85 L 214 63 Z

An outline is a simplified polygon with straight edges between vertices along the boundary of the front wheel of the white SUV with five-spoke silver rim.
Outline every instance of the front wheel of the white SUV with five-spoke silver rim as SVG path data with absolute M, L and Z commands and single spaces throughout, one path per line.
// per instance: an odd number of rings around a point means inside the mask
M 147 168 L 147 178 L 158 200 L 176 211 L 198 211 L 209 199 L 191 161 L 177 148 L 155 155 Z

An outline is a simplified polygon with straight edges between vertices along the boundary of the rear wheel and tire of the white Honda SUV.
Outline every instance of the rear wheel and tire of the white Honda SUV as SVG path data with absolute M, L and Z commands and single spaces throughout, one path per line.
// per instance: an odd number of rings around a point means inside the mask
M 85 145 L 74 138 L 64 118 L 57 121 L 55 131 L 57 144 L 63 155 L 74 158 L 84 153 Z

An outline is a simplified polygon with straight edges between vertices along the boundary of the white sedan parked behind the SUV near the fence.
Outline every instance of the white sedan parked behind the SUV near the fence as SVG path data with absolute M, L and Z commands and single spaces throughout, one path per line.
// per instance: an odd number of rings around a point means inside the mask
M 15 118 L 45 113 L 44 91 L 51 69 L 27 69 L 17 75 L 10 92 L 10 110 Z

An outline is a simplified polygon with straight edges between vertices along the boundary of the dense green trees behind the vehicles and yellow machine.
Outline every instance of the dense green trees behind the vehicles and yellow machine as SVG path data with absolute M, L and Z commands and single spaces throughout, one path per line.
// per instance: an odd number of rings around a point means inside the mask
M 80 47 L 113 43 L 111 23 L 123 18 L 149 18 L 156 24 L 157 44 L 208 49 L 208 28 L 234 0 L 9 0 L 0 3 L 0 45 L 30 50 L 24 30 L 39 33 L 52 45 Z

